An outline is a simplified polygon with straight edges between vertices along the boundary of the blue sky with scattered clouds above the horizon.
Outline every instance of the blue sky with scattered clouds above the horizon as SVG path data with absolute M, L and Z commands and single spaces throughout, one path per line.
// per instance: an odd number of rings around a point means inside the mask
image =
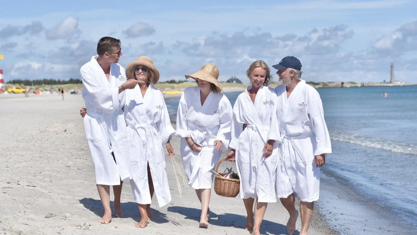
M 397 80 L 417 83 L 416 10 L 411 0 L 11 1 L 0 69 L 6 80 L 78 78 L 99 38 L 112 36 L 122 66 L 149 56 L 160 81 L 215 63 L 219 80 L 248 82 L 251 62 L 290 55 L 307 81 L 381 82 L 394 63 Z

